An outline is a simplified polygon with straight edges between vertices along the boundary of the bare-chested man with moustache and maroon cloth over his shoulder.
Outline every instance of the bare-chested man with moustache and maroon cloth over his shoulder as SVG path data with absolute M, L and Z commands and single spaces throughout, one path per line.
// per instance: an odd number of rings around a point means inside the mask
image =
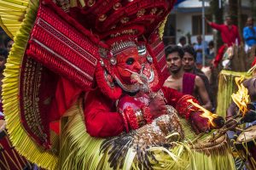
M 201 77 L 183 71 L 183 48 L 175 46 L 166 48 L 166 63 L 171 76 L 166 79 L 164 86 L 177 89 L 183 94 L 199 96 L 201 105 L 207 110 L 212 110 L 212 103 L 207 94 L 206 87 Z

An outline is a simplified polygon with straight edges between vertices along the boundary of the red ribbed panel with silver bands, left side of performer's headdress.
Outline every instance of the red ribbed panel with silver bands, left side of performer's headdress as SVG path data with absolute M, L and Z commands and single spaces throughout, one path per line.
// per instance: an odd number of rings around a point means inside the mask
M 61 16 L 68 15 L 54 6 L 52 3 L 48 8 L 41 3 L 26 54 L 61 77 L 90 90 L 100 58 L 99 40 L 81 26 L 77 28 L 76 22 L 62 20 Z

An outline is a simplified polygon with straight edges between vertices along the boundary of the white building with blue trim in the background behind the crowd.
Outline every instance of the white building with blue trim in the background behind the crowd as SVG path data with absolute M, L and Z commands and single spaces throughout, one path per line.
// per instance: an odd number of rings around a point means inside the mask
M 218 0 L 214 0 L 218 1 Z M 225 8 L 224 11 L 228 11 L 228 0 L 226 3 L 220 4 L 220 8 Z M 247 18 L 250 14 L 251 0 L 242 0 L 242 14 L 243 18 Z M 256 5 L 256 1 L 254 3 Z M 205 1 L 205 13 L 207 18 L 212 20 L 212 16 L 208 12 L 209 3 Z M 169 32 L 165 33 L 164 41 L 171 43 L 177 43 L 179 38 L 187 37 L 187 42 L 190 39 L 191 43 L 196 42 L 196 36 L 201 35 L 202 27 L 202 2 L 201 0 L 178 0 L 175 7 L 172 9 L 172 13 L 169 16 Z M 245 22 L 245 20 L 243 20 Z M 212 28 L 207 26 L 206 23 L 206 41 L 213 40 Z

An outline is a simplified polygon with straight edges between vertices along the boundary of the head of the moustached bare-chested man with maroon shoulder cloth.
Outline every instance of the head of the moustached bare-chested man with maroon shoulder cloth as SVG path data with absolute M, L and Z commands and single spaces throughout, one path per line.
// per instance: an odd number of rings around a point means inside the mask
M 172 73 L 176 74 L 182 69 L 182 59 L 184 56 L 183 48 L 179 46 L 168 47 L 166 52 L 166 64 Z

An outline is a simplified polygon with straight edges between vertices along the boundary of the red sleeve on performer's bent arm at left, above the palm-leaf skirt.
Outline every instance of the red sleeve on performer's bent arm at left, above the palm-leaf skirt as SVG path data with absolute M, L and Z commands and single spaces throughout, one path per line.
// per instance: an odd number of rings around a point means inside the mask
M 86 95 L 84 121 L 87 133 L 95 137 L 117 136 L 125 130 L 123 117 L 116 112 L 115 101 L 103 95 L 99 89 Z

